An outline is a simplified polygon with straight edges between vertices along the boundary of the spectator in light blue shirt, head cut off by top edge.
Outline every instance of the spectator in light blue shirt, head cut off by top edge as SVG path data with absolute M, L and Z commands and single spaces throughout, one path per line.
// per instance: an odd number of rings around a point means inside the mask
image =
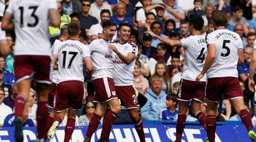
M 62 11 L 66 15 L 70 15 L 71 13 L 81 13 L 81 2 L 79 0 L 63 0 L 62 1 Z

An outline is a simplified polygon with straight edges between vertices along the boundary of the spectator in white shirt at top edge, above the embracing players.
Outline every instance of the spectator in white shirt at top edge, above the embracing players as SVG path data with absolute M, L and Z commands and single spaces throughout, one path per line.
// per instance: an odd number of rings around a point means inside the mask
M 109 10 L 110 16 L 113 15 L 111 6 L 109 4 L 103 3 L 103 0 L 95 0 L 95 2 L 93 2 L 91 4 L 91 8 L 89 10 L 89 15 L 95 17 L 98 20 L 98 22 L 101 23 L 101 14 L 100 13 L 103 9 Z

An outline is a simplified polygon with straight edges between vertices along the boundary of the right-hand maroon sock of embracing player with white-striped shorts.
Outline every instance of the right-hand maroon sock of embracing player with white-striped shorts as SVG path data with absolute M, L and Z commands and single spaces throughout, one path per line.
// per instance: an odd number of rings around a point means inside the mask
M 108 140 L 111 127 L 114 124 L 114 120 L 117 117 L 117 114 L 113 111 L 109 111 L 108 114 L 105 117 L 104 124 L 102 126 L 102 131 L 100 135 L 100 140 Z

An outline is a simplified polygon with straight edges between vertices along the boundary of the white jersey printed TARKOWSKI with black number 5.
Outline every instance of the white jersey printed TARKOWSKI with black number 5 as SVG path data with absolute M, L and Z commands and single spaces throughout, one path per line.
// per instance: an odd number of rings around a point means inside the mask
M 216 46 L 215 60 L 206 73 L 207 78 L 238 77 L 237 52 L 243 49 L 239 34 L 227 29 L 219 29 L 208 34 L 206 39 L 207 45 L 215 44 Z

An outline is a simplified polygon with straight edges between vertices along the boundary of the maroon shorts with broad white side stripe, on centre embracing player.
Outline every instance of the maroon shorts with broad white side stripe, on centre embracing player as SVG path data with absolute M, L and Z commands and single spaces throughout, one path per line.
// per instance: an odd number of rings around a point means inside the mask
M 103 77 L 93 80 L 95 88 L 95 96 L 93 102 L 104 103 L 111 99 L 118 99 L 117 93 L 115 93 L 115 83 L 113 78 Z

